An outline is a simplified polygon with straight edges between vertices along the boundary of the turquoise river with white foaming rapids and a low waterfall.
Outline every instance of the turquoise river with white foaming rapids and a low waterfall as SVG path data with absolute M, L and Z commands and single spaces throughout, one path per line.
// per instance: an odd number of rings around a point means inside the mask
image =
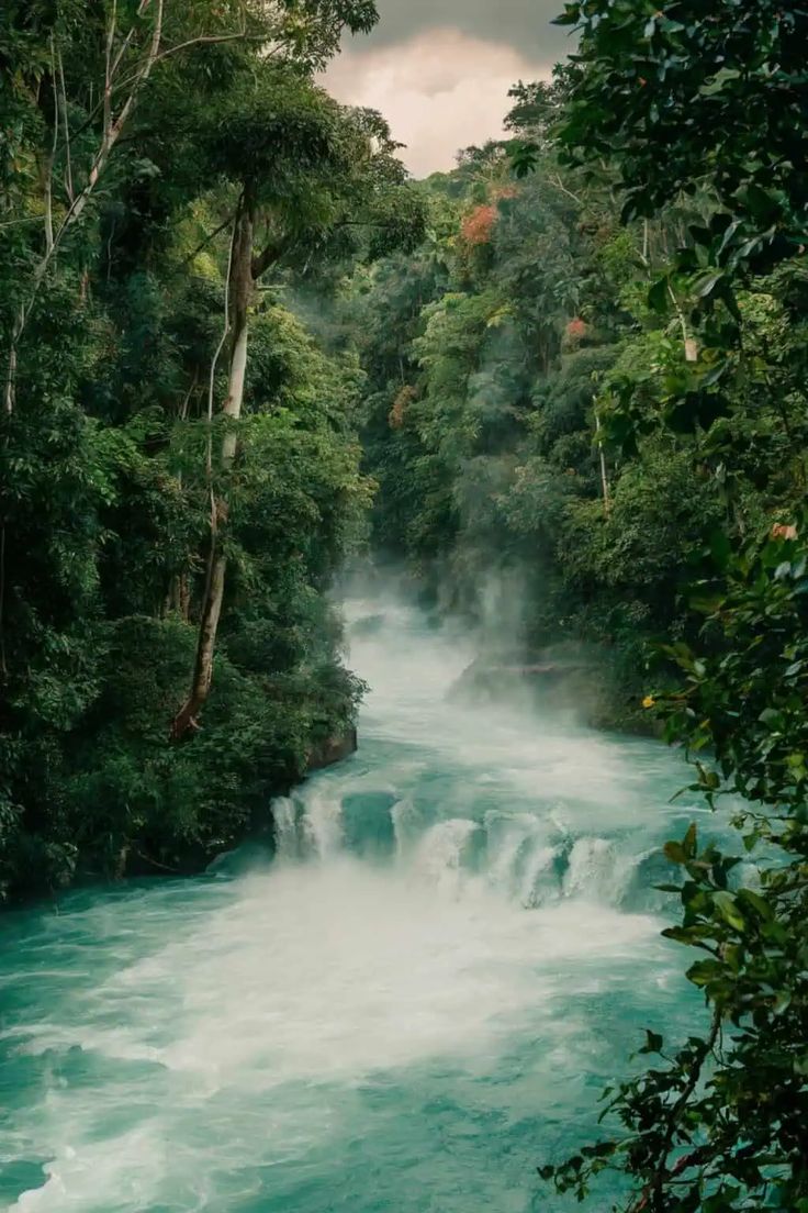
M 0 921 L 0 1208 L 556 1209 L 642 1029 L 701 1023 L 653 890 L 681 758 L 447 701 L 470 642 L 350 617 L 360 752 L 274 861 Z

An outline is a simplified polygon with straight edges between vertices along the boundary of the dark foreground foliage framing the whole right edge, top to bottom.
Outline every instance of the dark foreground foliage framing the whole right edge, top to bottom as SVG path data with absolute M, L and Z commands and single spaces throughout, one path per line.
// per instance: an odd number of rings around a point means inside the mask
M 624 354 L 598 405 L 640 478 L 649 448 L 684 442 L 723 507 L 683 536 L 688 631 L 664 648 L 680 673 L 646 706 L 688 747 L 693 790 L 733 798 L 738 847 L 701 845 L 692 826 L 666 848 L 683 911 L 665 934 L 700 953 L 688 978 L 709 1026 L 672 1049 L 648 1032 L 641 1052 L 660 1063 L 608 1093 L 623 1134 L 541 1173 L 583 1201 L 603 1169 L 623 1172 L 634 1213 L 803 1209 L 808 518 L 791 332 L 804 323 L 804 15 L 596 0 L 563 21 L 581 33 L 566 163 L 608 161 L 624 222 L 681 192 L 707 203 L 651 284 L 648 314 L 669 324 L 655 354 L 648 337 L 646 358 Z

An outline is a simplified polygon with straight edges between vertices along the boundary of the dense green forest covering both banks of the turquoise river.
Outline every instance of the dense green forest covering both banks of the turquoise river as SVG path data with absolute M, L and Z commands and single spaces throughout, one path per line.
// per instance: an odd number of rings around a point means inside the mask
M 317 82 L 374 19 L 4 6 L 0 889 L 270 828 L 356 719 L 345 569 L 471 623 L 510 587 L 518 660 L 585 660 L 735 838 L 666 847 L 704 1030 L 543 1180 L 806 1213 L 808 15 L 574 0 L 422 182 Z

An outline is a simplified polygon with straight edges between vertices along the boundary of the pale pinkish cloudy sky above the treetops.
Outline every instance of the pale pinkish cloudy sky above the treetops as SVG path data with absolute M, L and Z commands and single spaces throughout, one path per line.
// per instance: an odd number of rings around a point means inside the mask
M 569 46 L 562 0 L 378 0 L 380 22 L 328 70 L 340 101 L 379 109 L 416 176 L 502 132 L 508 90 L 549 75 Z

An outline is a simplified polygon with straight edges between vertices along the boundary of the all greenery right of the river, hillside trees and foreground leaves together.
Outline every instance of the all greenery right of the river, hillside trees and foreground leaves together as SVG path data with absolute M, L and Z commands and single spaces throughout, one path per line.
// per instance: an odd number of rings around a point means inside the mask
M 730 798 L 728 854 L 667 847 L 705 1019 L 649 1032 L 612 1134 L 543 1175 L 586 1200 L 617 1169 L 631 1213 L 808 1208 L 806 17 L 563 21 L 578 52 L 512 90 L 512 137 L 431 178 L 430 239 L 354 280 L 376 543 L 477 620 L 517 583 L 509 643 L 595 642 L 597 721 L 644 704 Z

